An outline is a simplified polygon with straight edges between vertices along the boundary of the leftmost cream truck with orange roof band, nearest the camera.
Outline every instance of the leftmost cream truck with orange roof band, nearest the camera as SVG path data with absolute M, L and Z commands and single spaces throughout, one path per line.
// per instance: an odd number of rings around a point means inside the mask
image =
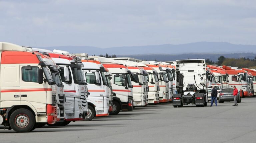
M 57 121 L 56 87 L 48 58 L 36 51 L 0 42 L 0 125 L 29 132 Z M 50 60 L 50 59 L 49 59 Z

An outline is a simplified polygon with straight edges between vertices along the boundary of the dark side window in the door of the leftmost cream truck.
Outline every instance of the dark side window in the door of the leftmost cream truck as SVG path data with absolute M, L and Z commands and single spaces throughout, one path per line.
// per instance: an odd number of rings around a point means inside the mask
M 38 67 L 22 67 L 22 80 L 25 82 L 38 82 Z

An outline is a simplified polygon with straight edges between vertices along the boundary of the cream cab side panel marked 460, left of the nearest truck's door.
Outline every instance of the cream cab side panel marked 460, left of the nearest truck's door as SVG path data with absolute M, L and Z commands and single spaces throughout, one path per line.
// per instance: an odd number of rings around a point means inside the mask
M 1 64 L 1 106 L 7 105 L 10 101 L 20 105 L 20 70 L 19 65 Z

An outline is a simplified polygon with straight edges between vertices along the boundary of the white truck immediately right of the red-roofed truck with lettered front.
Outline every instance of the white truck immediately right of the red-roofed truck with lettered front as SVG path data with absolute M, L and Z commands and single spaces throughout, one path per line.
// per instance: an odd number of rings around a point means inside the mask
M 82 63 L 84 64 L 82 70 L 88 87 L 87 120 L 92 120 L 94 116 L 108 116 L 111 90 L 105 76 L 107 71 L 101 62 L 96 60 L 82 60 Z

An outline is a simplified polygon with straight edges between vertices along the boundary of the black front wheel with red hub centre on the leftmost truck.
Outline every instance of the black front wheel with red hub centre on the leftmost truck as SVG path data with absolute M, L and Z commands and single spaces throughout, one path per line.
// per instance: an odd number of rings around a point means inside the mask
M 9 123 L 16 132 L 29 132 L 35 126 L 35 116 L 28 109 L 17 109 L 12 112 Z

